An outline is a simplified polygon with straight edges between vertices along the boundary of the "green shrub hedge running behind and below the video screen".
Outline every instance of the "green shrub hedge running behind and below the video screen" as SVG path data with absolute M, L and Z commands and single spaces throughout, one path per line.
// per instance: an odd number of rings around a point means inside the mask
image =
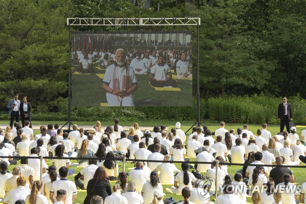
M 279 124 L 278 104 L 281 98 L 269 95 L 225 96 L 200 100 L 200 121 L 218 123 Z M 296 125 L 306 125 L 306 100 L 299 95 L 288 99 L 292 104 L 293 119 Z M 64 109 L 65 110 L 65 109 Z M 76 107 L 71 112 L 71 121 L 196 121 L 196 99 L 191 107 Z M 0 113 L 0 120 L 9 120 L 7 112 Z M 65 111 L 35 113 L 32 120 L 65 121 Z

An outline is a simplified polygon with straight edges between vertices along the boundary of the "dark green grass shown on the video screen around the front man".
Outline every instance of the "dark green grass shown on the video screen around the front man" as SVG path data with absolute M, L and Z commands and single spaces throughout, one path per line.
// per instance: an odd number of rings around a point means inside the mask
M 94 63 L 93 67 L 98 65 L 98 63 Z M 74 72 L 72 71 L 72 73 Z M 95 68 L 95 73 L 72 74 L 73 106 L 100 106 L 100 103 L 107 103 L 106 91 L 102 89 L 103 79 L 96 74 L 105 74 L 105 70 Z M 139 105 L 139 102 L 147 99 L 159 101 L 160 106 L 192 105 L 192 81 L 179 80 L 177 88 L 180 88 L 181 91 L 155 91 L 149 84 L 149 74 L 137 74 L 136 77 L 138 89 L 133 93 L 135 105 Z

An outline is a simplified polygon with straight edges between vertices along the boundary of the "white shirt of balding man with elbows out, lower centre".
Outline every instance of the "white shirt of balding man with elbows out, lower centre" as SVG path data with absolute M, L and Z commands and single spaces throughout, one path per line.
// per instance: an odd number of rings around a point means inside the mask
M 174 183 L 174 174 L 181 172 L 176 168 L 174 164 L 170 163 L 161 163 L 153 171 L 156 172 L 160 171 L 159 175 L 160 183 Z

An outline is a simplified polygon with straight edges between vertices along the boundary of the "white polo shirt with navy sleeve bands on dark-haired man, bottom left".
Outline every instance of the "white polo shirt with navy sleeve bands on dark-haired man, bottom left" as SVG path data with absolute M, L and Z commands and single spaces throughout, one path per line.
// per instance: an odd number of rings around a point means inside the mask
M 58 190 L 65 189 L 66 191 L 66 202 L 65 204 L 72 204 L 72 196 L 77 194 L 76 184 L 68 179 L 60 179 L 58 181 L 54 181 L 50 188 L 50 193 L 54 193 L 54 201 L 56 200 L 56 195 Z

